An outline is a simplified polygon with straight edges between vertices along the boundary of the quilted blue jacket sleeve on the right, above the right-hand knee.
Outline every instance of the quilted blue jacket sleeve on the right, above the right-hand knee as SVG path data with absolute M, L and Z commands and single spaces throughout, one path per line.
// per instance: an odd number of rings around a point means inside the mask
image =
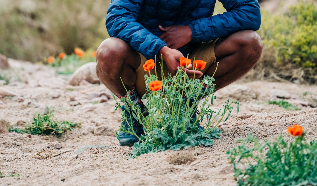
M 260 28 L 261 14 L 257 0 L 219 1 L 227 12 L 195 20 L 189 25 L 194 42 L 213 40 L 239 30 L 256 31 Z

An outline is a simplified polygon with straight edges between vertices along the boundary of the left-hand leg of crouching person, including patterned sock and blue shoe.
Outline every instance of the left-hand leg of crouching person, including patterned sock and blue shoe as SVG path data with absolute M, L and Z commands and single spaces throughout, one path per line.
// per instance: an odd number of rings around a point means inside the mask
M 138 104 L 139 108 L 144 111 L 145 106 L 135 90 L 137 80 L 135 70 L 139 68 L 141 63 L 139 53 L 123 40 L 108 38 L 98 47 L 96 61 L 96 72 L 100 81 L 120 99 L 129 96 L 130 100 L 134 102 L 133 104 Z M 120 78 L 122 78 L 122 81 Z M 130 91 L 129 95 L 127 95 L 122 82 L 127 91 Z M 121 107 L 123 111 L 121 125 L 125 131 L 120 130 L 118 137 L 120 145 L 124 146 L 132 146 L 139 141 L 141 135 L 145 135 L 143 126 L 139 123 L 138 119 L 133 117 L 130 107 L 129 103 L 128 107 L 125 105 Z M 146 115 L 146 113 L 144 114 Z M 131 135 L 131 132 L 134 132 L 136 135 Z

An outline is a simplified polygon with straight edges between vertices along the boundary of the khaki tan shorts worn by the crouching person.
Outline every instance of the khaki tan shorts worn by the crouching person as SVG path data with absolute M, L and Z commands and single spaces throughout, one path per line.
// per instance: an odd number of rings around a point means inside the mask
M 200 70 L 203 72 L 203 74 L 208 70 L 208 68 L 217 61 L 216 56 L 215 56 L 215 44 L 218 39 L 216 40 L 211 40 L 209 42 L 204 42 L 199 47 L 197 47 L 188 57 L 188 59 L 193 60 L 194 57 L 197 60 L 204 60 L 206 61 L 206 67 L 203 70 Z M 140 53 L 139 53 L 140 54 Z M 135 83 L 135 90 L 139 97 L 142 97 L 146 93 L 146 85 L 145 85 L 145 75 L 149 75 L 148 71 L 144 71 L 143 65 L 145 62 L 148 60 L 146 59 L 142 54 L 140 54 L 141 57 L 141 64 L 138 67 L 138 69 L 135 70 L 135 73 L 137 75 L 137 80 Z M 186 56 L 185 56 L 186 57 Z M 164 58 L 164 56 L 163 56 Z M 157 68 L 157 70 L 160 68 Z M 164 76 L 168 76 L 170 73 L 169 69 L 163 62 L 163 72 Z M 158 70 L 158 74 L 160 74 L 160 70 Z M 151 74 L 155 74 L 154 69 L 151 71 Z

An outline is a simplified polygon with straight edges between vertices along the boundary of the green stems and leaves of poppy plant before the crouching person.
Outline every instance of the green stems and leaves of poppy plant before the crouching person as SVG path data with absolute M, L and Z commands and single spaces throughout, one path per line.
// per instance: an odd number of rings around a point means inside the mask
M 147 99 L 148 116 L 144 115 L 139 105 L 135 106 L 129 97 L 120 100 L 125 104 L 126 110 L 130 109 L 128 112 L 132 113 L 133 117 L 144 126 L 146 133 L 146 136 L 140 139 L 142 142 L 134 144 L 130 158 L 168 149 L 178 151 L 198 145 L 210 146 L 213 144 L 213 139 L 220 138 L 221 131 L 216 128 L 217 125 L 228 119 L 233 109 L 231 104 L 238 105 L 239 103 L 227 100 L 223 105 L 223 110 L 213 111 L 210 106 L 216 99 L 216 96 L 213 95 L 215 85 L 212 82 L 214 79 L 208 76 L 204 76 L 202 80 L 189 79 L 180 68 L 175 76 L 169 75 L 161 78 L 163 79 L 161 90 L 152 91 L 149 89 L 149 84 L 157 81 L 158 76 L 164 75 L 145 76 L 146 94 L 142 99 Z M 205 89 L 203 89 L 203 84 L 206 85 Z M 193 104 L 190 105 L 189 99 L 183 99 L 182 95 L 193 98 Z M 200 102 L 198 98 L 203 95 L 206 97 Z M 127 107 L 127 103 L 132 106 Z M 200 112 L 196 119 L 192 119 L 196 107 Z M 120 103 L 117 103 L 117 108 L 120 108 Z M 206 127 L 200 129 L 197 125 L 203 120 L 206 122 Z M 133 123 L 131 121 L 127 121 L 127 123 L 130 125 L 130 130 L 125 130 L 125 127 L 121 126 L 121 131 L 136 135 L 132 130 Z

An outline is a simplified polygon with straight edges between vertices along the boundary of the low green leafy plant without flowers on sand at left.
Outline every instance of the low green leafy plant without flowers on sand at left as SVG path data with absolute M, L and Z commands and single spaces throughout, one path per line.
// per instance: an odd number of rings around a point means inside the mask
M 33 135 L 56 135 L 57 137 L 61 137 L 67 130 L 73 131 L 74 127 L 80 127 L 81 125 L 80 123 L 70 121 L 55 121 L 51 119 L 52 116 L 53 112 L 49 109 L 48 114 L 37 114 L 37 117 L 33 117 L 34 121 L 32 124 L 25 126 L 23 129 L 11 127 L 9 132 L 29 133 Z

